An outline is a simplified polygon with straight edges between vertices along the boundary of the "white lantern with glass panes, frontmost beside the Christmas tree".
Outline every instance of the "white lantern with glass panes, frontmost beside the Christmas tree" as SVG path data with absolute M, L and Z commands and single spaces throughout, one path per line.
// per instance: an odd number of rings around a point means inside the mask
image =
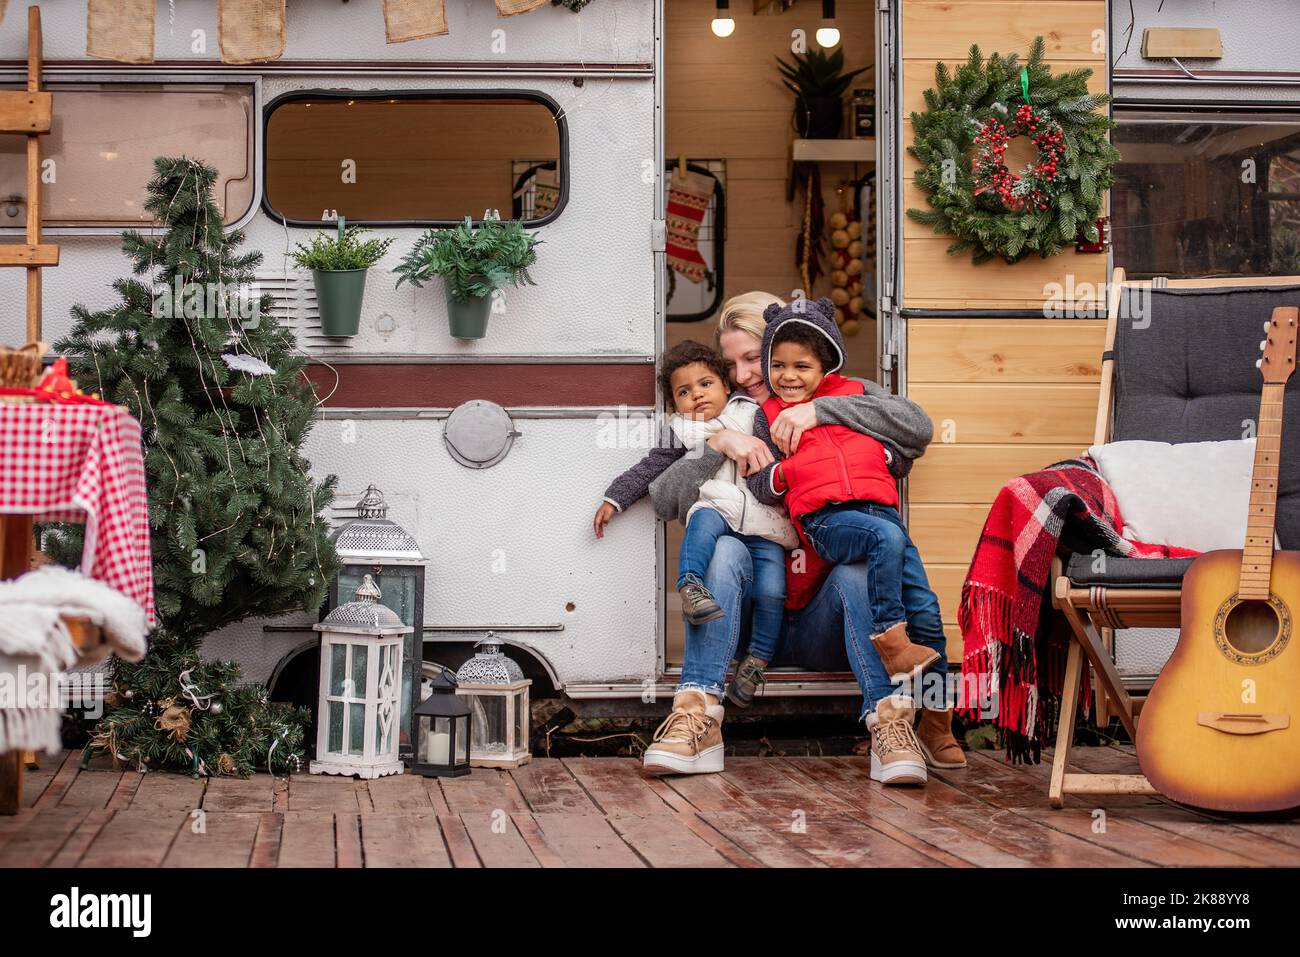
M 321 633 L 321 684 L 312 774 L 402 774 L 398 716 L 402 644 L 411 633 L 380 603 L 367 575 L 352 601 L 312 625 Z

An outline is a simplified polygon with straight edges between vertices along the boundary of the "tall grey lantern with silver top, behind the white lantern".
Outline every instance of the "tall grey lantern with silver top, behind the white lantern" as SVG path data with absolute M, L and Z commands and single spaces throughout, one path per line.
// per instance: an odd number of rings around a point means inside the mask
M 411 753 L 412 713 L 420 703 L 420 663 L 424 659 L 424 579 L 429 559 L 402 525 L 387 519 L 384 494 L 369 485 L 356 503 L 356 519 L 334 533 L 334 550 L 343 563 L 330 584 L 329 607 L 351 594 L 367 575 L 387 597 L 402 624 L 412 628 L 402 654 L 402 719 L 399 745 Z M 322 664 L 324 667 L 324 664 Z

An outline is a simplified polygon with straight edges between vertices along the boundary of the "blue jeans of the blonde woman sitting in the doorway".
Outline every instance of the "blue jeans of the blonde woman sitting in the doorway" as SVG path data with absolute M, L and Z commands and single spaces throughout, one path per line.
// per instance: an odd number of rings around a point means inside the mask
M 867 602 L 870 571 L 864 562 L 837 564 L 806 609 L 786 612 L 781 629 L 781 654 L 775 664 L 797 664 L 809 671 L 853 671 L 862 689 L 862 716 L 876 709 L 876 702 L 896 688 L 885 674 L 871 636 L 876 633 Z M 736 649 L 748 635 L 754 567 L 749 551 L 734 538 L 720 538 L 705 573 L 705 586 L 727 612 L 702 625 L 686 625 L 686 654 L 681 666 L 679 690 L 697 689 L 716 697 L 724 692 L 727 667 Z M 920 554 L 911 545 L 902 571 L 902 601 L 907 609 L 911 640 L 933 648 L 940 659 L 927 668 L 924 680 L 937 680 L 940 688 L 948 674 L 946 640 L 939 599 L 930 589 Z M 931 677 L 933 676 L 933 677 Z M 927 688 L 933 685 L 927 684 Z M 924 689 L 923 689 L 924 690 Z M 923 694 L 918 705 L 941 701 Z

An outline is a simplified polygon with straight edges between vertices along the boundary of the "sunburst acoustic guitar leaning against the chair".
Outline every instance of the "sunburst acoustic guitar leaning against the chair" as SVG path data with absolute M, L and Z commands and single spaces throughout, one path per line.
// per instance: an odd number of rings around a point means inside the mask
M 1166 797 L 1216 811 L 1300 806 L 1300 551 L 1274 551 L 1282 399 L 1300 309 L 1265 324 L 1245 546 L 1183 577 L 1182 629 L 1138 722 L 1138 759 Z

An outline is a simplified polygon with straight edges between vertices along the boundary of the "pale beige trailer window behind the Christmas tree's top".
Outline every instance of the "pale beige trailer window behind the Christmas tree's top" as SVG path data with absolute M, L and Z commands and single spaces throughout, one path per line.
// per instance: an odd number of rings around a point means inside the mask
M 47 226 L 139 226 L 159 156 L 216 166 L 228 224 L 254 202 L 254 87 L 188 83 L 51 83 L 55 113 L 42 138 Z M 0 135 L 0 226 L 21 226 L 27 138 Z

